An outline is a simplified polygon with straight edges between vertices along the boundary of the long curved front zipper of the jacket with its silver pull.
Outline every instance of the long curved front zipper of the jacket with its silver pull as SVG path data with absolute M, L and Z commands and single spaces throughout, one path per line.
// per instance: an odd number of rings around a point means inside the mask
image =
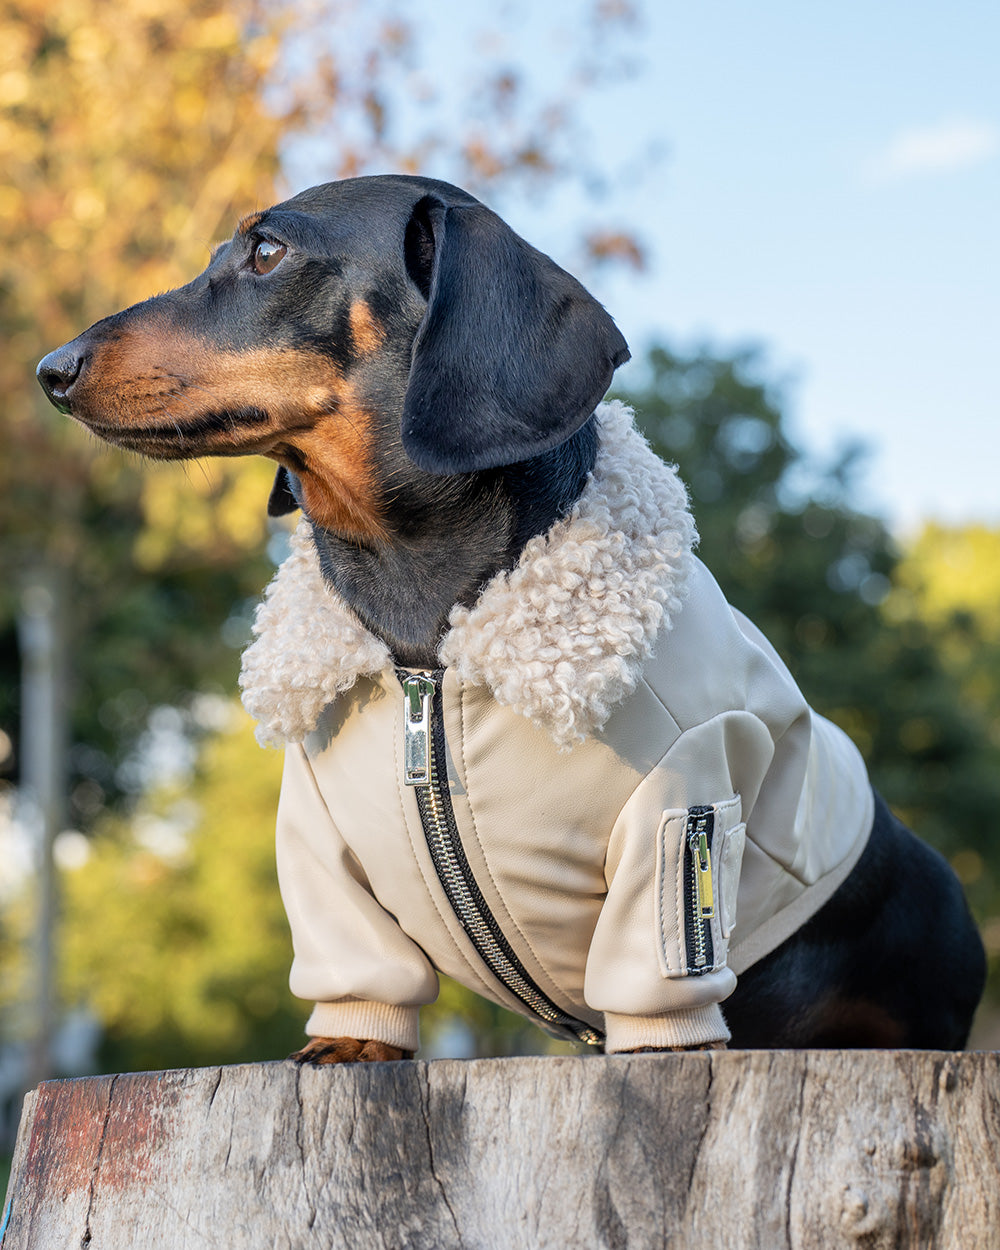
M 444 670 L 399 670 L 405 695 L 402 768 L 412 786 L 424 838 L 438 879 L 459 924 L 500 984 L 534 1015 L 562 1029 L 589 1046 L 604 1045 L 604 1034 L 562 1011 L 531 980 L 505 938 L 479 889 L 465 855 L 448 788 L 445 726 L 441 714 Z

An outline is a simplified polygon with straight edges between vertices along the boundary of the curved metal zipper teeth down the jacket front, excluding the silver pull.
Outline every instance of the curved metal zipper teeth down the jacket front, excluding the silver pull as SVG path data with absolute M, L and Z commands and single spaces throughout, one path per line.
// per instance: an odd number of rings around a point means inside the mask
M 442 670 L 421 676 L 428 676 L 434 682 L 428 744 L 429 780 L 425 785 L 414 786 L 414 790 L 428 849 L 448 900 L 480 958 L 505 989 L 546 1024 L 568 1030 L 590 1046 L 601 1046 L 604 1034 L 568 1015 L 531 980 L 482 898 L 459 836 L 446 785 L 446 770 L 439 766 L 439 761 L 445 758 L 444 719 L 440 710 Z

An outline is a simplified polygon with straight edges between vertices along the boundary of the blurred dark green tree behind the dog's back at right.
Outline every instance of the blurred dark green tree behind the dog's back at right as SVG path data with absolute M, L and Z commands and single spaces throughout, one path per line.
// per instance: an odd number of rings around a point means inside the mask
M 688 481 L 700 554 L 818 711 L 859 745 L 875 785 L 955 860 L 980 910 L 1000 882 L 998 749 L 960 698 L 932 620 L 884 610 L 899 554 L 851 504 L 858 449 L 826 468 L 789 439 L 754 352 L 650 352 L 629 396 Z

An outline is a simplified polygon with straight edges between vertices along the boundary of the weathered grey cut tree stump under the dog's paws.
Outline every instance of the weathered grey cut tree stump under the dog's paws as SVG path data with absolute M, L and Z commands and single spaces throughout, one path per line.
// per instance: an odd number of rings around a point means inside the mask
M 28 1095 L 2 1250 L 1000 1246 L 1000 1055 L 290 1062 Z

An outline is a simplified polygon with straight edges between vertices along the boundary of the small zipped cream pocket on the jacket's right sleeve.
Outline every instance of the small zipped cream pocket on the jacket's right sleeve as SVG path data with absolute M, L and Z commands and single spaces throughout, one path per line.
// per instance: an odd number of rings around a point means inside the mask
M 740 796 L 662 814 L 656 836 L 656 954 L 666 978 L 726 966 L 746 842 Z

